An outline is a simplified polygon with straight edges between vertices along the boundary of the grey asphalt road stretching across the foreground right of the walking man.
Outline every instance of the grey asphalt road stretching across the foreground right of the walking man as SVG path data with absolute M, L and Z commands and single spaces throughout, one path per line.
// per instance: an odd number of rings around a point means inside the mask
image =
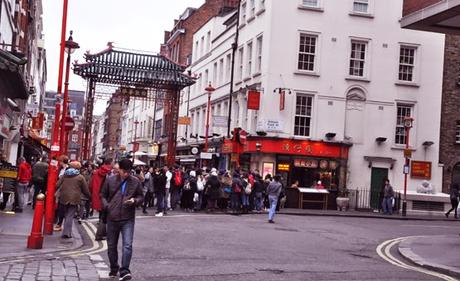
M 376 248 L 398 237 L 460 231 L 456 222 L 279 215 L 268 224 L 266 219 L 180 213 L 138 218 L 133 280 L 440 280 L 394 266 Z

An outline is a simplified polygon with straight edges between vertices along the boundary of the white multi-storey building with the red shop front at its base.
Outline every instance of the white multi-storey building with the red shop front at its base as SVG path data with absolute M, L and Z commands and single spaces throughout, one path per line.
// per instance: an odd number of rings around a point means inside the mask
M 243 167 L 302 186 L 321 179 L 376 191 L 388 177 L 401 190 L 408 116 L 412 160 L 431 165 L 413 171 L 408 188 L 423 178 L 441 187 L 443 35 L 401 29 L 402 0 L 246 0 L 241 9 L 231 129 L 250 134 Z M 228 115 L 235 24 L 232 15 L 216 17 L 194 36 L 189 70 L 199 78 L 181 108 L 190 108 L 192 135 L 204 135 L 208 82 L 216 88 L 211 115 Z M 261 93 L 259 110 L 247 109 L 250 89 Z

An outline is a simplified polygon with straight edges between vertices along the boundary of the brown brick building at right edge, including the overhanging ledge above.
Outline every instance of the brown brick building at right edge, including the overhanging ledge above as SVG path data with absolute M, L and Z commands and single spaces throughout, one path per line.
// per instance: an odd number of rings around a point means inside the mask
M 459 1 L 405 0 L 403 28 L 447 34 L 444 51 L 439 162 L 443 164 L 443 191 L 460 183 L 460 15 Z

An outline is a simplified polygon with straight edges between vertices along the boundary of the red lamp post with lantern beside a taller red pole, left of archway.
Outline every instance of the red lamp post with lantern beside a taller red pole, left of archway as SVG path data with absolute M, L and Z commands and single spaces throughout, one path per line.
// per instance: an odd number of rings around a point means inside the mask
M 65 72 L 65 82 L 64 82 L 64 101 L 62 102 L 62 117 L 61 117 L 61 136 L 60 136 L 60 148 L 61 154 L 67 154 L 66 143 L 66 130 L 65 130 L 65 120 L 68 114 L 68 102 L 69 102 L 69 75 L 70 75 L 70 55 L 75 52 L 80 45 L 77 42 L 73 41 L 72 31 L 70 31 L 70 36 L 67 41 L 65 41 L 65 51 L 67 53 L 66 61 L 66 72 Z

